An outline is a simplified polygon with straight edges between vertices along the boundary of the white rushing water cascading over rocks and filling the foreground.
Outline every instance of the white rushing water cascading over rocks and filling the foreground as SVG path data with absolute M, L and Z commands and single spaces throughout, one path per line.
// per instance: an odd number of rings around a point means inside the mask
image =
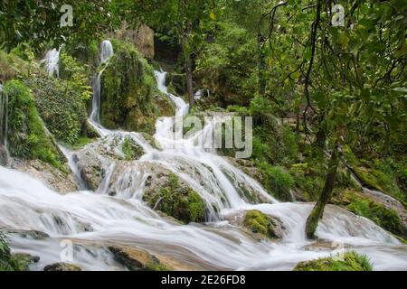
M 168 94 L 166 73 L 156 71 L 156 79 L 158 88 L 175 103 L 176 117 L 185 116 L 188 106 L 182 98 Z M 97 106 L 93 110 L 99 110 L 99 102 L 93 105 Z M 0 167 L 0 227 L 15 231 L 11 238 L 15 252 L 41 257 L 34 269 L 61 262 L 63 244 L 70 241 L 74 248 L 70 263 L 86 270 L 123 269 L 103 244 L 142 247 L 200 268 L 232 270 L 290 270 L 299 261 L 337 253 L 338 244 L 345 244 L 346 249 L 369 256 L 376 269 L 407 269 L 405 245 L 372 221 L 335 206 L 327 207 L 317 228 L 325 245 L 309 241 L 304 228 L 313 205 L 274 200 L 250 176 L 204 149 L 201 141 L 213 137 L 213 124 L 188 139 L 177 140 L 173 137 L 175 117 L 162 117 L 156 122 L 155 139 L 162 148 L 157 150 L 137 133 L 109 131 L 92 121 L 105 148 L 130 137 L 146 153 L 124 167 L 100 156 L 107 173 L 97 191 L 60 195 L 22 172 Z M 72 152 L 64 153 L 80 179 Z M 120 152 L 113 149 L 109 154 Z M 197 191 L 207 205 L 208 222 L 180 225 L 151 210 L 141 199 L 148 166 L 175 172 Z M 115 175 L 119 177 L 115 179 Z M 111 187 L 117 191 L 115 196 L 109 196 Z M 247 198 L 244 191 L 257 198 Z M 244 210 L 261 210 L 279 218 L 286 228 L 283 238 L 258 241 L 227 220 Z M 22 230 L 42 231 L 49 238 L 26 238 Z

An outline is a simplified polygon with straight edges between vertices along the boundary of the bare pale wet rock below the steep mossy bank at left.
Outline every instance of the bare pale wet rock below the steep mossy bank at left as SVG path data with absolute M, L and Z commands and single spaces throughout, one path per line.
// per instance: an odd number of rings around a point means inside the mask
M 49 163 L 44 163 L 40 160 L 14 159 L 12 168 L 28 173 L 33 178 L 43 181 L 53 191 L 61 193 L 78 191 L 78 186 L 71 174 L 62 172 Z

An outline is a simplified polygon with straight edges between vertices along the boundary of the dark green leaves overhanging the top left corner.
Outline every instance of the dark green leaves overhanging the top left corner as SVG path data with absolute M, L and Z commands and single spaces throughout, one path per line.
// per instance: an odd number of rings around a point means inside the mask
M 116 2 L 116 1 L 115 1 Z M 116 22 L 109 14 L 108 0 L 14 0 L 0 3 L 0 48 L 11 49 L 21 42 L 28 42 L 41 51 L 45 42 L 54 47 L 62 43 L 90 42 Z M 60 27 L 66 11 L 62 5 L 72 6 L 72 26 Z M 62 10 L 62 12 L 61 12 Z M 104 13 L 104 12 L 107 13 Z

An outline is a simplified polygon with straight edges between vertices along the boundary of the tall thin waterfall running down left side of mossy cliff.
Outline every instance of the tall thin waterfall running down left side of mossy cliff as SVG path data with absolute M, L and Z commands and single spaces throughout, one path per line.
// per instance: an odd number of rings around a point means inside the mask
M 92 112 L 90 114 L 90 123 L 92 126 L 99 131 L 100 123 L 100 85 L 101 85 L 101 76 L 103 71 L 108 65 L 110 57 L 113 56 L 113 46 L 109 40 L 105 40 L 100 44 L 100 66 L 105 65 L 100 71 L 96 80 L 93 84 L 93 101 L 92 101 Z

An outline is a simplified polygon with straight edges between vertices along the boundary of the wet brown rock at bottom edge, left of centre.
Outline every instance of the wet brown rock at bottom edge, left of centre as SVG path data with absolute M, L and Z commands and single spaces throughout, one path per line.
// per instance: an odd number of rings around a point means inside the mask
M 109 251 L 118 263 L 130 271 L 171 271 L 172 268 L 162 264 L 154 255 L 133 247 L 110 246 Z

